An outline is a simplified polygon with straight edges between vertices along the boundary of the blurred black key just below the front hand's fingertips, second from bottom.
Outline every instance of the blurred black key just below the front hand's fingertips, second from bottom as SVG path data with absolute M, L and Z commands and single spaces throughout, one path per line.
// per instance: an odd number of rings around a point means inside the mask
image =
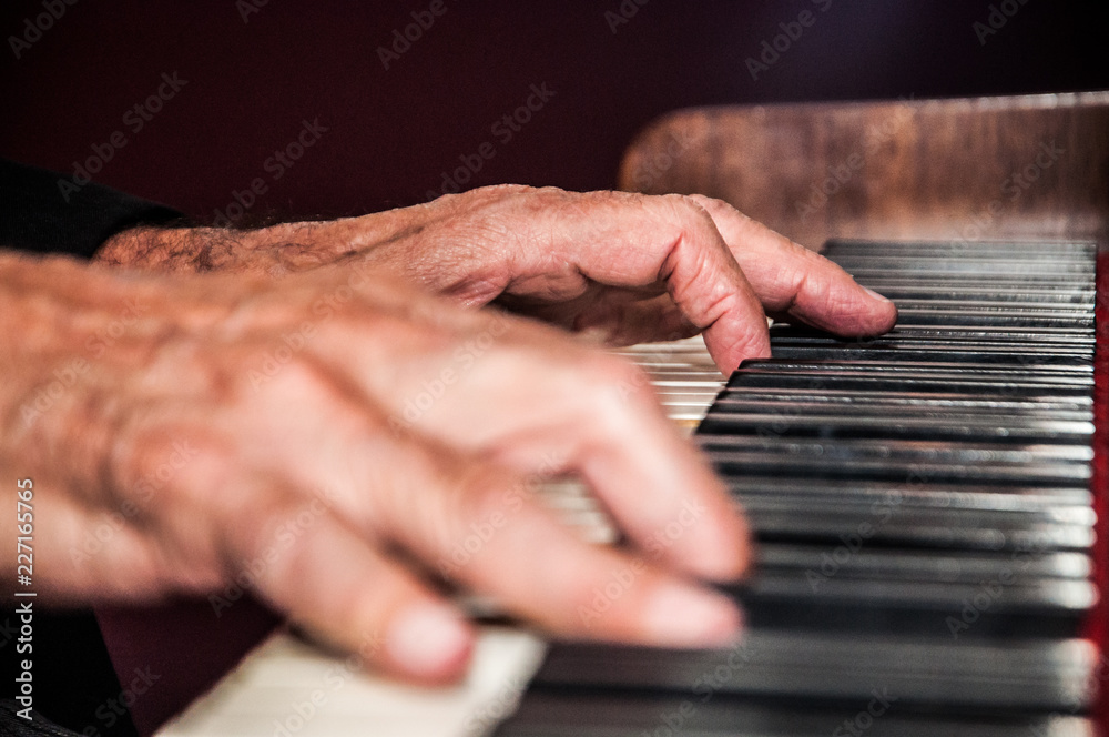
M 971 627 L 973 629 L 973 627 Z M 739 653 L 736 656 L 735 653 Z M 948 705 L 1074 711 L 1089 704 L 1085 679 L 1096 658 L 1082 639 L 1004 645 L 859 633 L 749 632 L 735 650 L 554 645 L 536 674 L 540 687 L 669 690 L 719 695 L 790 694 L 868 700 L 874 688 L 902 706 Z M 733 663 L 733 667 L 721 665 Z

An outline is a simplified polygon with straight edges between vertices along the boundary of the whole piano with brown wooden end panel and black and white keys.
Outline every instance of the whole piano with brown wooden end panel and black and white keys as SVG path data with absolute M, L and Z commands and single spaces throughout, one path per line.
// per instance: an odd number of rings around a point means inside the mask
M 339 660 L 283 634 L 162 734 L 1109 737 L 1109 94 L 679 111 L 621 185 L 732 202 L 901 310 L 867 341 L 775 325 L 726 384 L 696 340 L 623 351 L 753 523 L 744 639 L 491 626 L 459 688 L 352 674 L 291 723 Z

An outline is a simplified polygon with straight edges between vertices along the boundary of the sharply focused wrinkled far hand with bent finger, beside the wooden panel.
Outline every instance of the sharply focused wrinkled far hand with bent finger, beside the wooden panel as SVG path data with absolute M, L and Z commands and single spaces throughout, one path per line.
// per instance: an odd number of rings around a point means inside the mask
M 104 258 L 128 263 L 119 254 L 135 250 L 129 238 Z M 891 302 L 835 264 L 700 195 L 489 186 L 364 218 L 196 238 L 238 239 L 177 246 L 215 267 L 279 274 L 357 259 L 464 304 L 496 301 L 608 344 L 703 331 L 725 373 L 770 354 L 764 310 L 845 335 L 896 321 Z M 140 265 L 182 262 L 193 267 L 189 259 Z

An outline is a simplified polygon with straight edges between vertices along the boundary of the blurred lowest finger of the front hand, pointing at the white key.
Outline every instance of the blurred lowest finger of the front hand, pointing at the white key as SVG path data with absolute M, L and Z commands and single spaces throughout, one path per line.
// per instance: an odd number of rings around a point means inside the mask
M 457 679 L 475 637 L 461 614 L 313 502 L 287 494 L 252 509 L 226 539 L 232 577 L 250 576 L 271 605 L 369 665 L 424 683 Z

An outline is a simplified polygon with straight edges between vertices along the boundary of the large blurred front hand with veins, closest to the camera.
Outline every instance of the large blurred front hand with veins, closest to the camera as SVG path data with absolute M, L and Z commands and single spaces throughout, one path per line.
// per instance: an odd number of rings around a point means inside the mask
M 0 467 L 34 482 L 40 597 L 218 603 L 245 584 L 427 682 L 456 677 L 474 636 L 429 573 L 559 635 L 734 637 L 696 579 L 743 572 L 745 526 L 643 376 L 370 271 L 166 277 L 0 252 Z M 532 498 L 529 478 L 563 473 L 627 547 Z

